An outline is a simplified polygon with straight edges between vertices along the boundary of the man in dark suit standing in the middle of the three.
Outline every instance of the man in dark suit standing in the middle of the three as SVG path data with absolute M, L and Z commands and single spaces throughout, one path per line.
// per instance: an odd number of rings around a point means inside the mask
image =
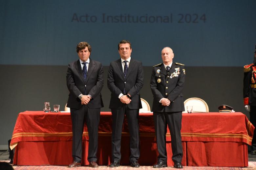
M 122 40 L 118 44 L 121 59 L 110 63 L 108 88 L 111 91 L 109 108 L 112 112 L 112 163 L 117 167 L 121 159 L 121 133 L 124 115 L 130 132 L 130 162 L 139 167 L 139 109 L 142 108 L 139 91 L 143 86 L 142 63 L 131 58 L 131 42 Z

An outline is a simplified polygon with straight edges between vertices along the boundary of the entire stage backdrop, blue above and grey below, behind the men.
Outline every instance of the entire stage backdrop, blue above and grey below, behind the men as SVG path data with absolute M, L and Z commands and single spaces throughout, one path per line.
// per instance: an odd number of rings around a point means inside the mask
M 152 66 L 165 46 L 185 64 L 184 99 L 200 97 L 217 111 L 243 107 L 243 66 L 253 62 L 256 44 L 254 0 L 0 0 L 0 149 L 5 149 L 17 114 L 42 110 L 68 98 L 66 70 L 78 59 L 77 43 L 92 46 L 102 62 L 102 90 L 109 111 L 108 66 L 119 58 L 117 44 L 132 42 L 132 56 L 145 71 L 141 97 L 152 106 Z

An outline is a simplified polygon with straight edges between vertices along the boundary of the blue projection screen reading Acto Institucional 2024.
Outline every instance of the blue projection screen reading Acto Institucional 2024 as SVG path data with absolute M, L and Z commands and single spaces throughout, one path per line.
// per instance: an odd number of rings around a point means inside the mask
M 117 44 L 153 66 L 169 46 L 186 66 L 243 66 L 253 61 L 255 0 L 0 0 L 0 64 L 68 65 L 76 45 L 107 66 Z

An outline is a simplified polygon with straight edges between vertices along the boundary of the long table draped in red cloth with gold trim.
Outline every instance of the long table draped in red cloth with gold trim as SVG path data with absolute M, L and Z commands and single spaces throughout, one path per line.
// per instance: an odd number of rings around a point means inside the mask
M 182 113 L 181 140 L 184 166 L 248 166 L 247 144 L 253 125 L 240 112 Z M 111 163 L 111 112 L 100 113 L 98 164 Z M 152 113 L 139 114 L 140 165 L 157 163 L 157 144 Z M 122 129 L 121 161 L 129 165 L 129 131 L 126 118 Z M 82 164 L 88 165 L 89 136 L 83 132 Z M 11 139 L 14 164 L 68 165 L 72 158 L 72 123 L 69 112 L 25 111 L 18 114 Z M 171 137 L 166 134 L 168 165 L 173 165 Z

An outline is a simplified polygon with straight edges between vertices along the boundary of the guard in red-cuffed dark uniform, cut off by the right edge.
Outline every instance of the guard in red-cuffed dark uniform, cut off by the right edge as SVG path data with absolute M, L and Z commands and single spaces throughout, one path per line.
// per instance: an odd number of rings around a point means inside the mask
M 256 45 L 254 59 L 256 58 Z M 256 63 L 244 66 L 244 105 L 250 111 L 250 122 L 256 127 Z M 256 130 L 252 138 L 251 154 L 256 155 Z

